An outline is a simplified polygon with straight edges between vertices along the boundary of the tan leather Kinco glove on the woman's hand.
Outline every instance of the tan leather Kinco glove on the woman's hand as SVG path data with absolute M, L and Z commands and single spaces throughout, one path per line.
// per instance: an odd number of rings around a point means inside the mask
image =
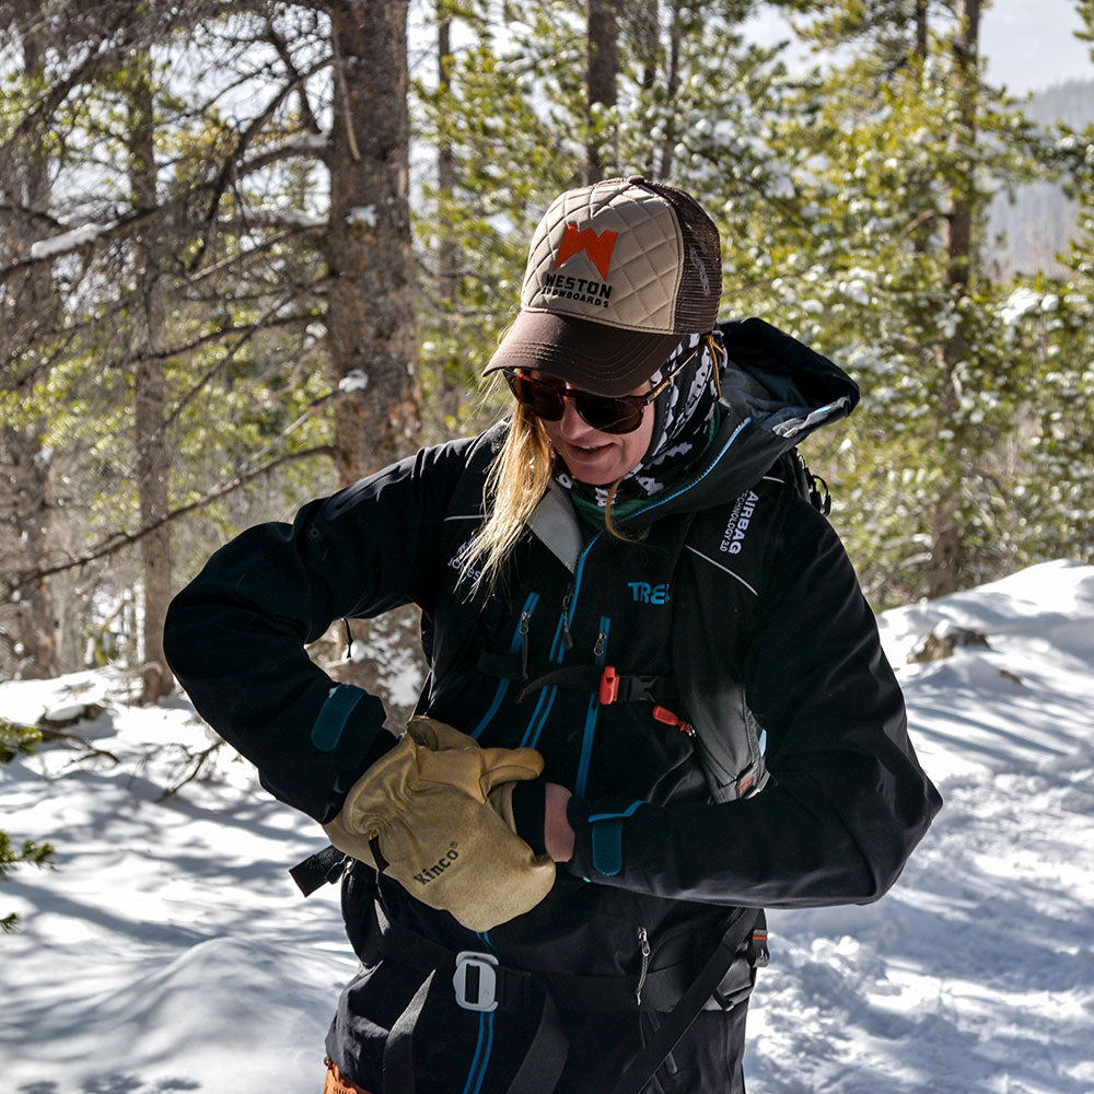
M 555 863 L 512 826 L 513 783 L 537 778 L 543 764 L 534 748 L 481 748 L 451 725 L 415 718 L 323 827 L 335 847 L 423 904 L 488 931 L 555 884 Z

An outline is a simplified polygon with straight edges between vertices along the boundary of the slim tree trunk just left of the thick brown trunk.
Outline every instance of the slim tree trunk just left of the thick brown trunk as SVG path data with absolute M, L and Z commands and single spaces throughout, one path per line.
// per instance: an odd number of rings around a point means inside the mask
M 151 74 L 147 58 L 131 65 L 129 93 L 129 185 L 135 209 L 152 209 L 156 200 L 155 117 Z M 150 221 L 135 252 L 136 305 L 133 329 L 133 399 L 136 426 L 137 489 L 141 525 L 162 521 L 168 512 L 170 454 L 166 438 L 166 384 L 163 359 L 163 289 L 160 281 L 159 225 Z M 163 655 L 163 622 L 171 601 L 171 531 L 164 524 L 140 542 L 144 590 L 143 667 L 141 701 L 155 702 L 174 687 Z

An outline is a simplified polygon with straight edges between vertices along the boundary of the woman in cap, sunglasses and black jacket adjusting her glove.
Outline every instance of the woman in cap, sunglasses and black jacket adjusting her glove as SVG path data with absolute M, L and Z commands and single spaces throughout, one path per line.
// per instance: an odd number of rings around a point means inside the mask
M 720 293 L 688 195 L 567 191 L 487 369 L 511 420 L 245 532 L 172 607 L 198 710 L 351 857 L 328 1091 L 743 1091 L 758 909 L 877 898 L 941 804 L 784 457 L 858 392 Z M 426 717 L 388 733 L 303 645 L 407 602 Z

